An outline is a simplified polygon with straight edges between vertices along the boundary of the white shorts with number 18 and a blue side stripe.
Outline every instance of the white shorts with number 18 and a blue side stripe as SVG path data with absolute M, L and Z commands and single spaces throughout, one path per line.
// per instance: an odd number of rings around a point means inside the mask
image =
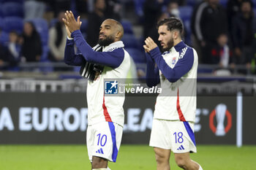
M 194 123 L 154 119 L 149 146 L 174 153 L 197 152 Z

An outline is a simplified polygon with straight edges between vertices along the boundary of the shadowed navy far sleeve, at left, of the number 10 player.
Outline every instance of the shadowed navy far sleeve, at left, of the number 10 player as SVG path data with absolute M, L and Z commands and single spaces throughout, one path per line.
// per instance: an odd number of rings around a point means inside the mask
M 75 54 L 74 40 L 67 39 L 64 53 L 64 62 L 71 66 L 81 66 L 83 61 L 83 55 Z

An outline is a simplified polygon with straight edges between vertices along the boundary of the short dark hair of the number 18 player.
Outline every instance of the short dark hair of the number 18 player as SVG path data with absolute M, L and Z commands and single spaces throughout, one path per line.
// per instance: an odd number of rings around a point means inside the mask
M 173 31 L 174 29 L 177 29 L 180 34 L 182 34 L 183 31 L 183 24 L 181 20 L 175 17 L 160 20 L 157 23 L 157 29 L 159 28 L 159 26 L 167 26 L 168 31 Z

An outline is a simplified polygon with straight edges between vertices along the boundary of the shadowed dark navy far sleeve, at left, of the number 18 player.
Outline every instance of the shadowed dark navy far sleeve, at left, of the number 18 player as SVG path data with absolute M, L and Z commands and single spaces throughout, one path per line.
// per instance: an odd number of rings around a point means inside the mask
M 146 83 L 149 88 L 159 84 L 159 69 L 155 66 L 155 63 L 151 56 L 146 53 L 147 71 L 146 71 Z

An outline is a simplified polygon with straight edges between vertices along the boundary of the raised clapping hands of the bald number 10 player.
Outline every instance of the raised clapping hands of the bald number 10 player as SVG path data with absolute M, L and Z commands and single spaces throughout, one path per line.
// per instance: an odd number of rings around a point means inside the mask
M 62 20 L 65 23 L 65 26 L 67 26 L 68 30 L 72 33 L 75 30 L 79 30 L 82 22 L 80 21 L 80 16 L 78 16 L 78 21 L 75 20 L 75 17 L 72 13 L 72 11 L 66 11 L 65 12 L 65 18 L 62 18 Z M 66 29 L 67 29 L 66 28 Z

